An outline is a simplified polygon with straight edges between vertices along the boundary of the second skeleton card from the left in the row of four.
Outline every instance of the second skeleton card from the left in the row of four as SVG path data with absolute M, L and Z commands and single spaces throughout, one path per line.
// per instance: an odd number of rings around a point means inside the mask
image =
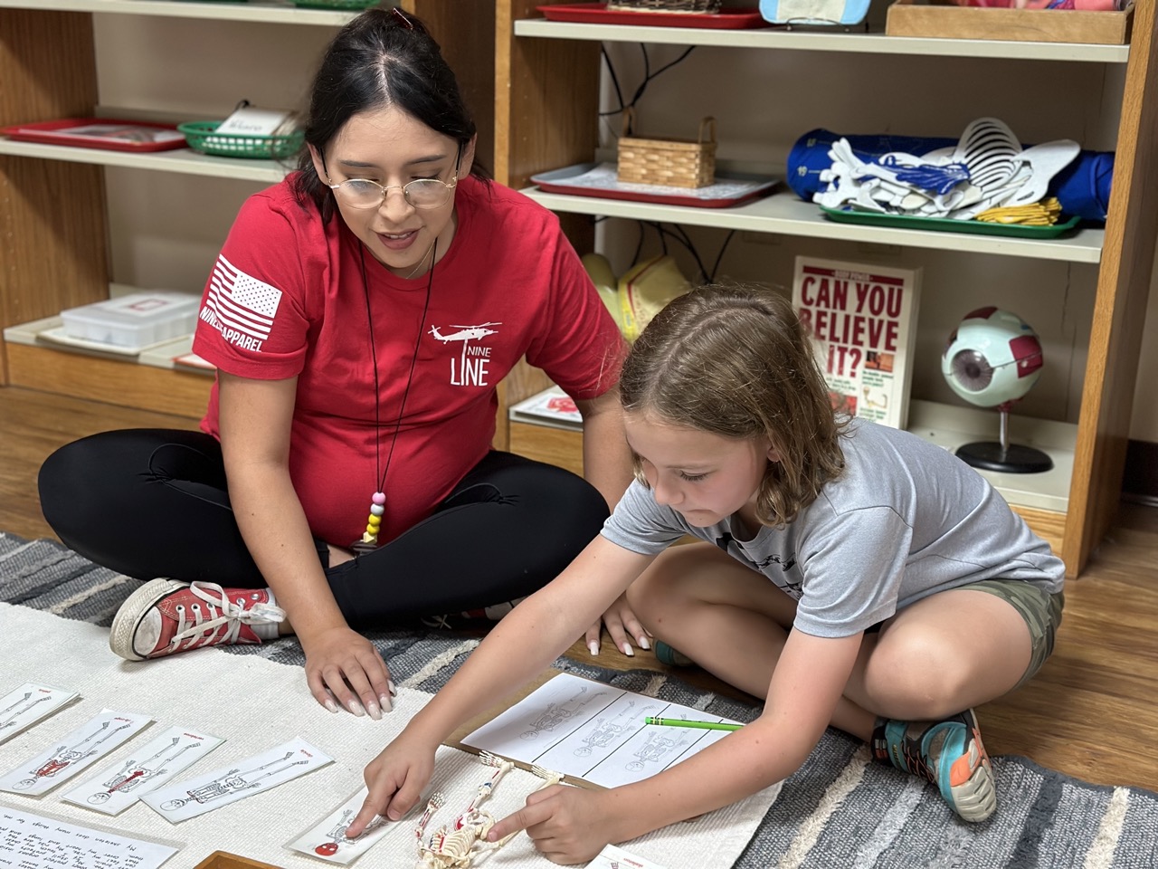
M 54 740 L 47 751 L 0 776 L 0 790 L 28 796 L 47 794 L 137 736 L 152 722 L 147 715 L 104 709 L 67 736 Z

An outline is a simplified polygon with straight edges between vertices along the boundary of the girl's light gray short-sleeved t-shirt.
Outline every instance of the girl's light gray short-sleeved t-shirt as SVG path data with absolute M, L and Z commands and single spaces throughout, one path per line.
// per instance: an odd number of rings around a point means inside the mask
M 786 527 L 752 540 L 735 517 L 698 528 L 635 482 L 602 534 L 645 555 L 686 534 L 716 543 L 794 598 L 794 627 L 821 637 L 981 579 L 1062 590 L 1065 565 L 976 470 L 906 431 L 864 419 L 849 431 L 844 473 Z

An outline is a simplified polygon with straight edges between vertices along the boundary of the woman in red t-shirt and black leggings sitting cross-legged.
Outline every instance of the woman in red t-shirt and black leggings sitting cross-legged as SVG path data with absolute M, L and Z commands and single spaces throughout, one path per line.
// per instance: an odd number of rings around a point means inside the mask
M 338 32 L 305 137 L 206 285 L 201 431 L 69 444 L 41 499 L 86 557 L 166 577 L 117 613 L 118 655 L 295 633 L 318 702 L 376 718 L 389 670 L 357 628 L 501 611 L 598 533 L 631 474 L 622 339 L 555 217 L 475 166 L 475 125 L 417 19 L 372 9 Z M 589 483 L 490 448 L 496 386 L 522 357 L 582 412 Z M 646 647 L 623 600 L 607 623 Z

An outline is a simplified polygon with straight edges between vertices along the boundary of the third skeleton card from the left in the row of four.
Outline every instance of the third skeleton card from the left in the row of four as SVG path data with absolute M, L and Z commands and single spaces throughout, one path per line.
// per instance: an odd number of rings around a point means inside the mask
M 119 815 L 223 742 L 219 736 L 190 728 L 169 728 L 123 761 L 110 764 L 88 781 L 78 784 L 61 798 L 103 815 Z

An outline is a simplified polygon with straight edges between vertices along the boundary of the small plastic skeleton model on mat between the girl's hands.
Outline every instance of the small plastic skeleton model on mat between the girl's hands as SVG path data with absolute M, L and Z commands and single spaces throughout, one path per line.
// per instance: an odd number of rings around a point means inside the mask
M 423 812 L 415 830 L 415 838 L 418 842 L 417 869 L 469 869 L 476 857 L 498 850 L 514 838 L 515 834 L 511 833 L 496 842 L 486 841 L 486 834 L 494 826 L 494 818 L 490 812 L 479 809 L 479 805 L 490 798 L 494 787 L 514 764 L 488 752 L 479 754 L 479 760 L 486 766 L 494 767 L 494 773 L 488 781 L 478 786 L 475 798 L 455 818 L 453 825 L 444 824 L 424 841 L 426 825 L 434 817 L 434 812 L 446 804 L 446 797 L 442 794 L 431 795 L 426 803 L 426 811 Z M 559 773 L 552 773 L 541 766 L 532 767 L 532 772 L 543 780 L 543 783 L 535 790 L 557 784 L 563 779 Z

